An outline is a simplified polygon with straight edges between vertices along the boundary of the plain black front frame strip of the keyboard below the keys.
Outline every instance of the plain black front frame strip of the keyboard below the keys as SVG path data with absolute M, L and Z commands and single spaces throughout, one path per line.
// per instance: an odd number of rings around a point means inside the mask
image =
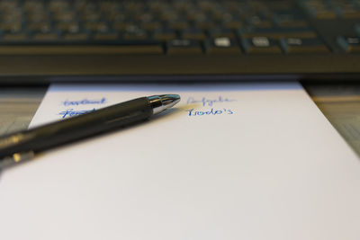
M 0 84 L 127 81 L 350 80 L 360 55 L 0 57 Z

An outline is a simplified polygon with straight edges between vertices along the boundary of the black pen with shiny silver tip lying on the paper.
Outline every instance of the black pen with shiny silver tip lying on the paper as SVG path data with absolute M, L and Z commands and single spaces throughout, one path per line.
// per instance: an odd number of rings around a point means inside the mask
M 31 159 L 36 153 L 52 147 L 147 120 L 177 102 L 180 102 L 177 94 L 141 97 L 4 136 L 0 138 L 0 169 Z

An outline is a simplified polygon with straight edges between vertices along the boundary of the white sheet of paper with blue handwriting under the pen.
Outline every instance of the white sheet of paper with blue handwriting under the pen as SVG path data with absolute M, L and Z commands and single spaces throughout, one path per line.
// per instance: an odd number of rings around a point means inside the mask
M 52 85 L 31 126 L 157 93 L 182 101 L 4 170 L 1 238 L 360 239 L 359 159 L 300 84 Z

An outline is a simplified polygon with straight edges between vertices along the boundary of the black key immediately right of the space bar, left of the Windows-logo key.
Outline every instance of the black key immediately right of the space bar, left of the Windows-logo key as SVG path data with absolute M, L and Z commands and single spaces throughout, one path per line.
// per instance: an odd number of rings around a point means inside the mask
M 202 46 L 198 40 L 168 40 L 168 55 L 202 54 Z

